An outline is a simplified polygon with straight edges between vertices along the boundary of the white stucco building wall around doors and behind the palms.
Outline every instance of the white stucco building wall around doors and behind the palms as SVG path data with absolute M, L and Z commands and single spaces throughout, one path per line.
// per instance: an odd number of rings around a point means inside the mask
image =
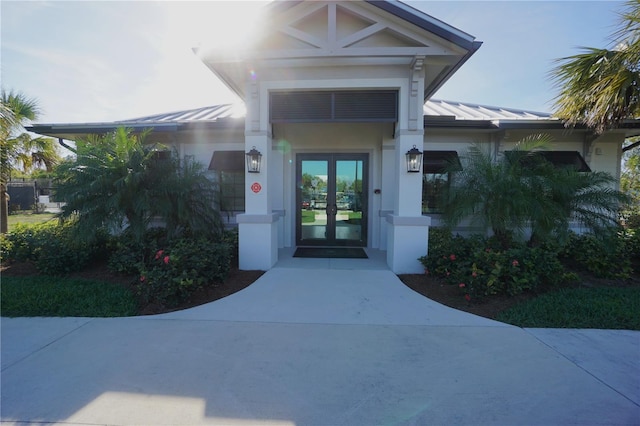
M 295 245 L 295 165 L 298 153 L 365 152 L 369 154 L 368 247 L 387 249 L 388 223 L 386 216 L 394 211 L 396 193 L 395 139 L 393 125 L 384 123 L 297 123 L 273 126 L 273 150 L 270 163 L 272 209 L 282 217 L 277 222 L 278 247 Z M 423 150 L 455 150 L 463 155 L 472 143 L 487 144 L 500 154 L 513 149 L 522 138 L 540 130 L 510 130 L 506 132 L 425 128 Z M 586 143 L 583 132 L 553 130 L 545 132 L 553 138 L 552 150 L 578 151 L 592 170 L 620 176 L 623 135 L 608 133 Z M 183 132 L 176 144 L 185 156 L 208 166 L 213 152 L 243 151 L 243 129 Z M 380 194 L 374 191 L 379 189 Z M 430 215 L 432 226 L 441 225 L 440 216 Z M 232 219 L 233 220 L 233 219 Z M 473 232 L 468 223 L 458 228 L 460 233 Z

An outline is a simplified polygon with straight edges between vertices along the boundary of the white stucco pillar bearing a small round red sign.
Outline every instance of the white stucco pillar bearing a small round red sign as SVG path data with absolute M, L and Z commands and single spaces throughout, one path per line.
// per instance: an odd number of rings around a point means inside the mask
M 267 114 L 261 114 L 267 102 L 260 98 L 259 84 L 251 81 L 247 91 L 245 152 L 255 147 L 262 154 L 260 173 L 249 173 L 245 164 L 245 213 L 238 222 L 239 267 L 241 270 L 271 269 L 278 260 L 278 217 L 272 212 L 275 184 L 272 179 L 272 137 L 267 130 Z

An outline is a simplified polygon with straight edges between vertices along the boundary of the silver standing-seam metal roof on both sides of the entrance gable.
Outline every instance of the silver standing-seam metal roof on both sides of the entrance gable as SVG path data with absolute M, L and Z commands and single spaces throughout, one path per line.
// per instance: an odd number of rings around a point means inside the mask
M 424 104 L 424 114 L 432 117 L 454 117 L 456 120 L 551 120 L 551 115 L 542 112 L 525 111 L 513 108 L 491 107 L 429 100 Z M 197 123 L 215 122 L 228 118 L 244 117 L 243 106 L 224 104 L 185 111 L 155 114 L 130 120 L 116 121 L 114 124 L 156 124 L 156 123 Z

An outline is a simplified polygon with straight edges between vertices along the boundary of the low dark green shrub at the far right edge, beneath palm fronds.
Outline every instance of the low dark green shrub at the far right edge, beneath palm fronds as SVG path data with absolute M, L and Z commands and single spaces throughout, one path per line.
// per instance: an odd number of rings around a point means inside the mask
M 626 279 L 632 272 L 627 246 L 619 234 L 597 237 L 571 233 L 561 255 L 597 277 Z

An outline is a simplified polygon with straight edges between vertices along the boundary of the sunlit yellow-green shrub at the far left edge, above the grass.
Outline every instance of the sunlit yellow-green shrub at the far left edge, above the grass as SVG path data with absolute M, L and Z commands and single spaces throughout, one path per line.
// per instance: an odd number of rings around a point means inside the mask
M 33 261 L 44 275 L 64 275 L 84 268 L 98 253 L 104 253 L 106 235 L 91 243 L 74 237 L 75 222 L 16 225 L 3 237 L 3 261 Z M 6 251 L 5 251 L 6 250 Z

